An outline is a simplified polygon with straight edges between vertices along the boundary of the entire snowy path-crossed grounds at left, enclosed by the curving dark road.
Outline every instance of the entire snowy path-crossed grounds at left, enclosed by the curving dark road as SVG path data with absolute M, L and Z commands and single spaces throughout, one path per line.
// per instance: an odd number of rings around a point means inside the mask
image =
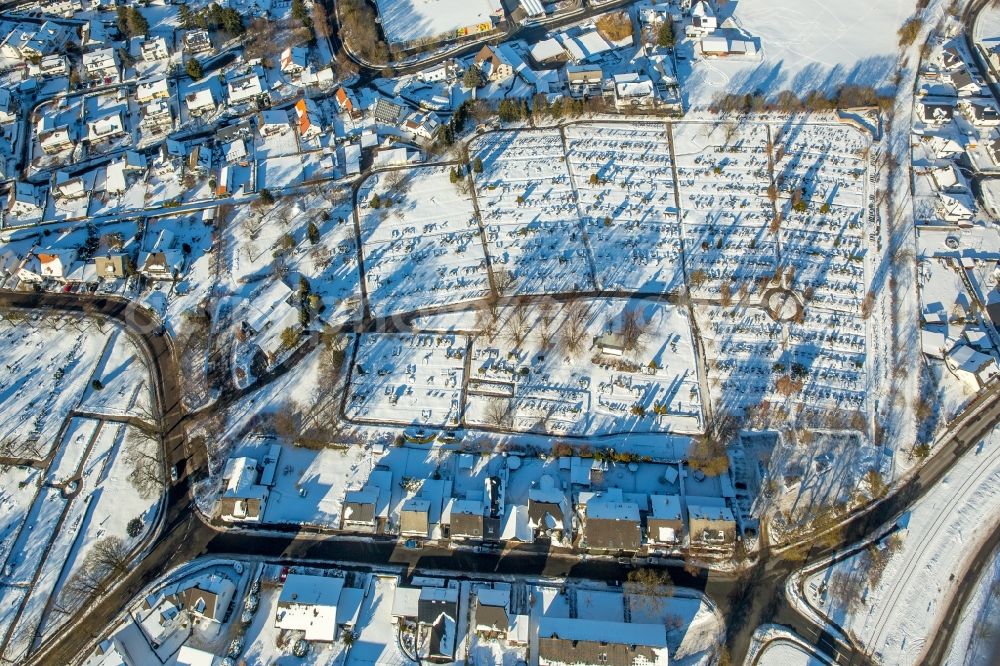
M 114 536 L 129 547 L 152 527 L 159 491 L 140 492 L 134 466 L 140 447 L 152 456 L 158 445 L 103 420 L 151 418 L 146 369 L 120 329 L 75 317 L 10 315 L 0 327 L 10 383 L 0 394 L 4 455 L 35 461 L 33 469 L 0 466 L 7 583 L 0 601 L 8 609 L 0 644 L 5 658 L 17 660 L 36 636 L 59 629 L 67 616 L 58 609 L 81 602 L 64 586 L 97 540 Z M 133 518 L 142 521 L 135 538 L 126 533 Z

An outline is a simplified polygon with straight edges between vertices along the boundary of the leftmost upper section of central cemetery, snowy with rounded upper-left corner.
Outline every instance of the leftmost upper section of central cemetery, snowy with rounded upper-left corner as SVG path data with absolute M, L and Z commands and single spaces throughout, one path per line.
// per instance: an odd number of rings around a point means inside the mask
M 446 167 L 379 173 L 358 191 L 365 284 L 376 314 L 489 293 L 472 200 Z

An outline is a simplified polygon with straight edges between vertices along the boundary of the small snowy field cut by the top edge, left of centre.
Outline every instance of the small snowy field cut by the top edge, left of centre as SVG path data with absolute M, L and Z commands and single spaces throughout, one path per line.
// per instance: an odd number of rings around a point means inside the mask
M 379 18 L 390 44 L 424 37 L 456 37 L 456 31 L 489 24 L 500 10 L 498 0 L 377 0 Z M 461 34 L 461 33 L 460 33 Z

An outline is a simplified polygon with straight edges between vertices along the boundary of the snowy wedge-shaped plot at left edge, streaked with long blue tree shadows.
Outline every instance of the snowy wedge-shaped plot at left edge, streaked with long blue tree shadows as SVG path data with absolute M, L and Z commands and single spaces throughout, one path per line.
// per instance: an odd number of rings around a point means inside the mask
M 0 319 L 3 455 L 45 458 L 86 391 L 111 329 L 90 320 Z

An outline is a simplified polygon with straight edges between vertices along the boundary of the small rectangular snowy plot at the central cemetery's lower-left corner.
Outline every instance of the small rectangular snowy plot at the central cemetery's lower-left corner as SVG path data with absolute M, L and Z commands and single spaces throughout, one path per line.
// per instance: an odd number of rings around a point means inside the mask
M 361 335 L 345 413 L 378 423 L 455 425 L 465 355 L 458 335 Z

